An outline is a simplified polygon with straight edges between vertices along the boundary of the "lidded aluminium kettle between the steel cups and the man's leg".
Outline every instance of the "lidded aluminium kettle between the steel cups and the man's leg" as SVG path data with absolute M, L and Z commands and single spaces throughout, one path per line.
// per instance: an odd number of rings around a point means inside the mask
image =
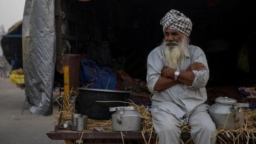
M 141 114 L 134 106 L 119 106 L 109 108 L 110 112 L 116 111 L 112 116 L 113 131 L 140 131 Z

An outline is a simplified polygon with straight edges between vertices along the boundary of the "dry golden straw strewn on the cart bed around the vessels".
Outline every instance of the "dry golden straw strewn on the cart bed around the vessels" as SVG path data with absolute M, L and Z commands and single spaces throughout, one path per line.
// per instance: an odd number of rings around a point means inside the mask
M 75 100 L 78 96 L 76 91 L 69 91 L 68 98 L 65 98 L 64 95 L 61 95 L 56 101 L 60 104 L 62 109 L 59 110 L 56 114 L 54 114 L 56 120 L 59 120 L 60 114 L 62 113 L 61 123 L 67 120 L 72 119 L 72 113 L 76 113 L 75 104 L 72 103 L 72 100 Z M 60 101 L 64 104 L 61 105 Z M 111 101 L 115 102 L 115 101 Z M 133 102 L 128 102 L 131 106 L 135 106 L 137 111 L 141 114 L 142 117 L 142 129 L 141 134 L 146 144 L 154 142 L 158 144 L 158 137 L 154 131 L 151 114 L 148 112 L 147 106 L 138 106 Z M 247 143 L 249 144 L 250 140 L 256 140 L 256 111 L 255 110 L 244 110 L 244 117 L 245 117 L 245 125 L 239 129 L 235 130 L 226 130 L 226 129 L 217 129 L 217 133 L 215 136 L 217 137 L 217 142 L 221 144 L 229 144 L 231 143 Z M 88 119 L 87 122 L 87 129 L 85 131 L 92 131 L 96 127 L 102 127 L 104 130 L 111 131 L 111 120 L 95 120 L 95 119 Z M 190 132 L 189 125 L 181 125 L 182 132 Z M 145 134 L 148 134 L 150 137 L 149 139 L 145 138 Z M 124 134 L 121 133 L 123 138 Z M 192 139 L 187 140 L 184 142 L 180 139 L 181 144 L 191 143 Z

